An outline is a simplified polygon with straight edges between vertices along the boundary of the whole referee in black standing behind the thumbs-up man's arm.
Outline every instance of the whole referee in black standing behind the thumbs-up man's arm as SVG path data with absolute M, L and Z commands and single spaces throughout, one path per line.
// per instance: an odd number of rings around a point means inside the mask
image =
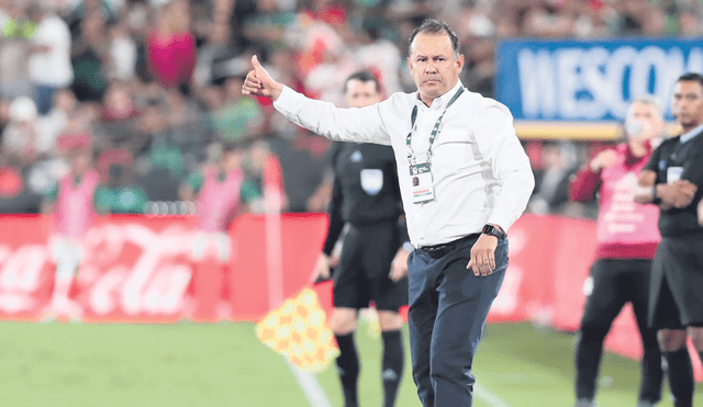
M 378 79 L 368 71 L 347 78 L 344 92 L 349 108 L 382 100 Z M 403 373 L 399 308 L 408 304 L 406 262 L 412 250 L 402 222 L 395 158 L 390 146 L 336 143 L 333 148 L 330 228 L 317 261 L 317 276 L 330 276 L 330 255 L 348 224 L 333 276 L 334 314 L 330 321 L 339 344 L 337 373 L 344 403 L 345 407 L 358 406 L 359 358 L 354 332 L 359 309 L 372 301 L 383 338 L 383 407 L 392 407 Z

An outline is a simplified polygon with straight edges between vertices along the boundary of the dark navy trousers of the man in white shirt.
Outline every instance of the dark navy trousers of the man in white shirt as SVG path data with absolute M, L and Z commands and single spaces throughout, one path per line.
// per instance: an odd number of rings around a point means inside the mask
M 408 259 L 413 380 L 424 407 L 472 405 L 473 355 L 507 268 L 507 240 L 499 240 L 493 274 L 473 275 L 466 265 L 475 242 L 439 259 L 422 249 Z

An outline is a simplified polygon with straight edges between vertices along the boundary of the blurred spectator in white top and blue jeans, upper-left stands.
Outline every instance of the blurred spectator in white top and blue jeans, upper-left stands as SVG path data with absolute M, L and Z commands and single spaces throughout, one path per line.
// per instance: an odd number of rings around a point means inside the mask
M 70 31 L 51 1 L 33 4 L 30 14 L 37 21 L 29 58 L 30 80 L 38 113 L 46 114 L 52 108 L 54 92 L 74 81 Z

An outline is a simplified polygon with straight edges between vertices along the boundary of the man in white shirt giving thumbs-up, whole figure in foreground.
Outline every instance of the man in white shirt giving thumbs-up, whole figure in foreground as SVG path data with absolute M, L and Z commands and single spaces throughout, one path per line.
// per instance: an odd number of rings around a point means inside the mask
M 425 407 L 472 405 L 473 354 L 507 267 L 505 230 L 534 188 L 510 111 L 467 91 L 454 31 L 426 20 L 409 42 L 417 92 L 338 109 L 276 82 L 252 58 L 245 94 L 334 140 L 391 145 L 408 231 L 413 377 Z M 413 178 L 417 178 L 417 184 Z M 471 272 L 467 272 L 467 269 Z

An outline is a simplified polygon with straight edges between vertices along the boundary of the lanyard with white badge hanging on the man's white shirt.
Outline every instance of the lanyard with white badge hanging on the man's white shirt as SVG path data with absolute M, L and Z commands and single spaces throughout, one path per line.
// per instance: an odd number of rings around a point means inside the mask
M 410 177 L 412 180 L 412 202 L 414 204 L 423 204 L 426 202 L 431 202 L 435 199 L 433 181 L 432 181 L 432 171 L 431 171 L 431 161 L 432 161 L 432 144 L 435 142 L 435 137 L 439 132 L 439 125 L 442 124 L 442 120 L 444 118 L 444 114 L 447 113 L 447 109 L 456 102 L 457 99 L 464 93 L 464 87 L 459 88 L 459 90 L 451 97 L 449 103 L 437 118 L 437 123 L 435 123 L 432 133 L 429 134 L 429 146 L 427 147 L 427 160 L 422 163 L 413 163 L 416 162 L 415 154 L 411 146 L 412 137 L 413 137 L 413 127 L 415 126 L 415 120 L 417 118 L 417 105 L 413 108 L 413 112 L 410 116 L 410 133 L 408 133 L 408 138 L 405 139 L 408 143 L 408 161 L 410 163 Z

